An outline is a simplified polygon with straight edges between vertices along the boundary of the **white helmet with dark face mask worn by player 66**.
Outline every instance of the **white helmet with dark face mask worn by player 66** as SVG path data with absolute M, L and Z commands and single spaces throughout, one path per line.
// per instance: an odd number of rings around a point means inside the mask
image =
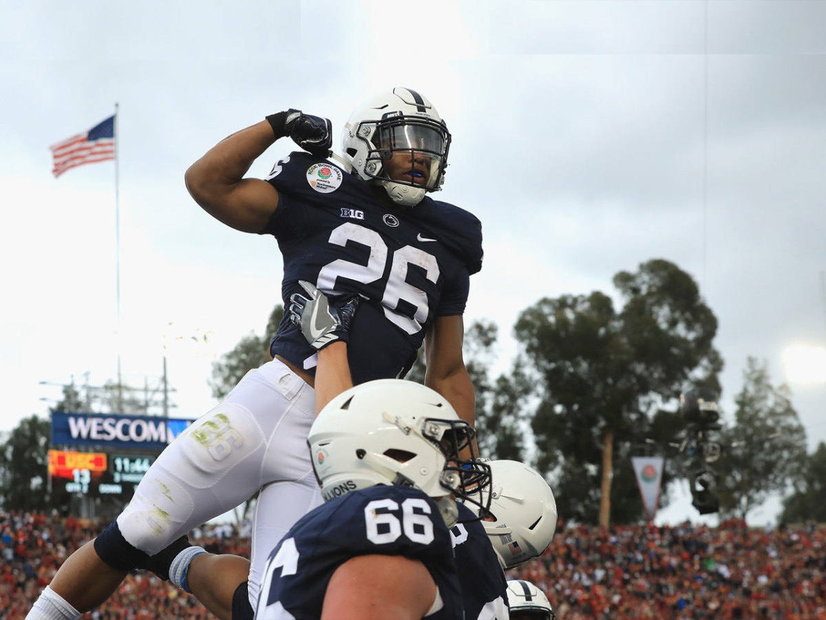
M 487 465 L 458 456 L 475 435 L 434 390 L 377 379 L 333 398 L 313 422 L 307 444 L 325 500 L 376 484 L 415 487 L 437 500 L 453 527 L 458 509 L 450 495 L 465 498 L 466 484 L 490 479 Z

